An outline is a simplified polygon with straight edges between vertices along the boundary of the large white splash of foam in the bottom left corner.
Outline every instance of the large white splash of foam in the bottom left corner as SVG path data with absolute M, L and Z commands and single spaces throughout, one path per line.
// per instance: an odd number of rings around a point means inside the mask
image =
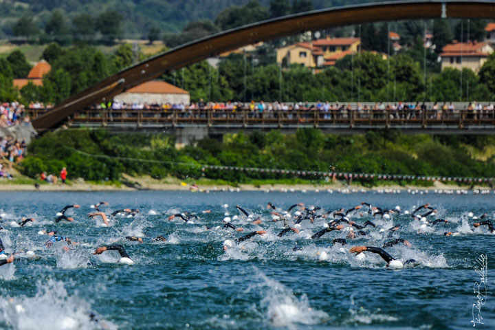
M 19 330 L 117 329 L 111 322 L 91 321 L 91 305 L 78 296 L 69 296 L 63 282 L 48 280 L 37 283 L 34 297 L 2 296 L 1 321 Z

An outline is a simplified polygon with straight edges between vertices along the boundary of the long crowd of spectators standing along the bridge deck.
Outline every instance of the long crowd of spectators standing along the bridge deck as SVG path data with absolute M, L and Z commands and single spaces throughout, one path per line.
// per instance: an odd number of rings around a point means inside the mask
M 384 118 L 386 115 L 391 119 L 417 119 L 421 118 L 424 113 L 427 118 L 430 119 L 442 119 L 450 118 L 453 115 L 459 115 L 459 110 L 466 111 L 466 118 L 495 118 L 494 104 L 470 102 L 465 103 L 461 109 L 456 109 L 453 102 L 393 102 L 385 104 L 384 102 L 353 102 L 353 103 L 340 103 L 340 102 L 192 102 L 191 104 L 126 104 L 114 100 L 107 104 L 98 104 L 95 109 L 111 109 L 115 110 L 113 115 L 119 116 L 118 113 L 121 110 L 144 110 L 146 115 L 153 115 L 153 111 L 156 113 L 162 113 L 163 116 L 170 115 L 174 111 L 179 111 L 179 115 L 190 118 L 201 118 L 206 115 L 208 111 L 211 111 L 212 115 L 230 115 L 234 116 L 235 113 L 246 111 L 250 118 L 276 118 L 282 115 L 283 118 L 293 118 L 294 116 L 305 117 L 312 115 L 314 111 L 318 111 L 318 115 L 322 119 L 332 118 L 349 118 L 353 115 L 353 118 Z M 306 112 L 305 112 L 306 111 Z M 110 113 L 112 115 L 112 113 Z M 127 114 L 132 116 L 132 114 Z

